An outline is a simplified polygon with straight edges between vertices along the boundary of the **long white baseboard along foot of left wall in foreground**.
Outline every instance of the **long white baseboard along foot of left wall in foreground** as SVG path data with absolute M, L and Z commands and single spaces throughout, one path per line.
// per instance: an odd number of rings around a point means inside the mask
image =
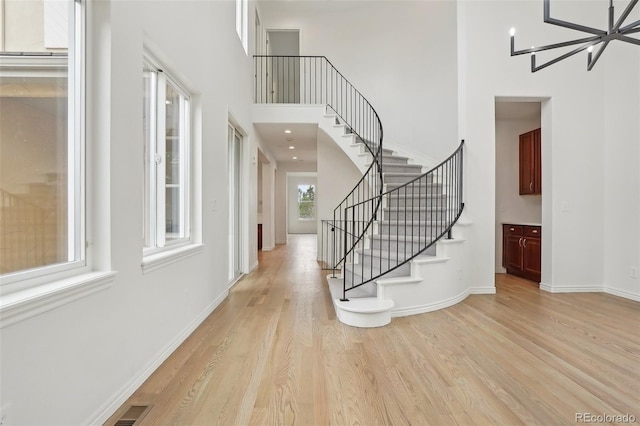
M 142 371 L 133 377 L 125 386 L 103 404 L 91 417 L 83 422 L 87 425 L 102 425 L 113 413 L 124 404 L 133 393 L 147 380 L 154 371 L 195 331 L 196 328 L 227 298 L 228 291 L 223 292 L 216 300 L 207 306 L 193 321 L 191 321 L 170 343 L 169 345 L 146 366 Z

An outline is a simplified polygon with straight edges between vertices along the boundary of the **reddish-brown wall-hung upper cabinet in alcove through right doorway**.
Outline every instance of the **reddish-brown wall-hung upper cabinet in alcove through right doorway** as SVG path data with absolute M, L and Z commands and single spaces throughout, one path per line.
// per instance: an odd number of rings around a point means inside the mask
M 541 131 L 520 135 L 520 195 L 542 193 Z

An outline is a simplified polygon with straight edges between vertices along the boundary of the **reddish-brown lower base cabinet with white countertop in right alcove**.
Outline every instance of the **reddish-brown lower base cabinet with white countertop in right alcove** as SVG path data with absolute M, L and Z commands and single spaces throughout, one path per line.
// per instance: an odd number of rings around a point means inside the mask
M 542 228 L 502 225 L 502 266 L 509 274 L 540 282 Z

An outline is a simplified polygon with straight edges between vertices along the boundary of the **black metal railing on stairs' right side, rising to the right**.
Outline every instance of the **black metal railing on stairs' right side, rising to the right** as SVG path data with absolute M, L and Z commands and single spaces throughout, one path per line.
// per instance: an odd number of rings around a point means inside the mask
M 423 175 L 345 208 L 343 299 L 347 292 L 408 263 L 447 236 L 464 209 L 464 141 L 446 160 Z M 383 203 L 377 232 L 362 218 Z M 355 241 L 367 233 L 366 244 Z M 353 241 L 352 241 L 353 240 Z M 374 254 L 376 256 L 374 256 Z

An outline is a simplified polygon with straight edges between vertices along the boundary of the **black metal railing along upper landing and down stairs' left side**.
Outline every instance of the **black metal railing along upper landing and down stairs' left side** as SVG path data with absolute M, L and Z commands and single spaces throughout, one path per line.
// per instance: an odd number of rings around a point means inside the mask
M 332 226 L 322 241 L 323 252 L 332 253 L 322 259 L 327 269 L 344 266 L 346 253 L 361 244 L 366 232 L 375 221 L 382 199 L 382 123 L 369 101 L 324 56 L 254 56 L 255 103 L 325 105 L 333 110 L 346 131 L 353 133 L 357 142 L 371 155 L 371 165 L 360 181 L 334 209 Z M 350 235 L 346 230 L 344 213 L 350 206 L 373 197 L 377 200 L 360 212 L 360 234 Z M 323 232 L 322 235 L 325 233 Z M 346 247 L 344 244 L 353 244 Z

